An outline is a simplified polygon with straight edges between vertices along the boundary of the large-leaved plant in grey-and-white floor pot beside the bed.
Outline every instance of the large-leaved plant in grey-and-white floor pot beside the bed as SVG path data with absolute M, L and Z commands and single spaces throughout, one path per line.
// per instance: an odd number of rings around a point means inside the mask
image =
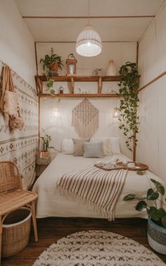
M 160 202 L 166 206 L 165 200 L 160 199 L 165 195 L 165 188 L 155 179 L 150 180 L 155 188 L 148 188 L 146 198 L 139 198 L 134 193 L 130 193 L 123 200 L 137 200 L 135 209 L 139 212 L 146 210 L 148 214 L 148 243 L 155 251 L 166 255 L 166 212 L 163 207 L 157 205 L 157 202 Z

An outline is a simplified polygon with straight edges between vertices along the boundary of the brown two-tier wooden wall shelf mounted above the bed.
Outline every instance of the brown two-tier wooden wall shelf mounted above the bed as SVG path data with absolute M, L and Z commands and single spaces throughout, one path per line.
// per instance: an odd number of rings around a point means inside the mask
M 120 75 L 58 75 L 55 77 L 50 77 L 56 82 L 69 82 L 70 83 L 70 93 L 65 94 L 44 94 L 43 93 L 43 82 L 46 82 L 45 75 L 35 75 L 36 85 L 37 85 L 37 95 L 39 97 L 117 97 L 114 93 L 102 93 L 102 82 L 103 81 L 120 81 Z M 140 75 L 138 75 L 138 80 Z M 76 94 L 75 93 L 75 82 L 97 82 L 98 92 L 97 93 L 86 93 L 86 94 Z

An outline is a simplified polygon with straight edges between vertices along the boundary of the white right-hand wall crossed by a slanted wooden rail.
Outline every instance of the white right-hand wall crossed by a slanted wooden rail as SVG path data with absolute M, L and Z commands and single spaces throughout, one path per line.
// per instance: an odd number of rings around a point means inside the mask
M 141 86 L 166 71 L 166 6 L 157 14 L 139 44 Z M 141 90 L 139 145 L 136 159 L 166 181 L 166 76 Z

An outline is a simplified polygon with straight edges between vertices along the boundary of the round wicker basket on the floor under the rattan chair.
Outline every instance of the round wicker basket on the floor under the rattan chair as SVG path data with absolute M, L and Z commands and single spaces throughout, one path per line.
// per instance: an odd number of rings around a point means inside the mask
M 6 216 L 2 233 L 2 257 L 9 257 L 27 246 L 30 238 L 31 210 L 22 207 Z

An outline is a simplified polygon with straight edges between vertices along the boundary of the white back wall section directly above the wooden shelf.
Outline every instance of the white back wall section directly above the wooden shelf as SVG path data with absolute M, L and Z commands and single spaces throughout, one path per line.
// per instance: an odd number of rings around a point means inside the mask
M 77 58 L 77 74 L 80 75 L 93 75 L 95 68 L 103 68 L 103 74 L 106 73 L 108 61 L 113 59 L 117 71 L 119 67 L 126 61 L 136 61 L 136 42 L 111 42 L 103 43 L 101 54 L 91 58 L 79 56 L 75 51 L 75 43 L 37 43 L 37 61 L 39 66 L 39 73 L 42 73 L 42 64 L 39 64 L 41 58 L 45 54 L 51 54 L 51 47 L 53 53 L 62 56 L 64 68 L 61 74 L 66 74 L 65 60 L 70 53 L 73 53 Z

